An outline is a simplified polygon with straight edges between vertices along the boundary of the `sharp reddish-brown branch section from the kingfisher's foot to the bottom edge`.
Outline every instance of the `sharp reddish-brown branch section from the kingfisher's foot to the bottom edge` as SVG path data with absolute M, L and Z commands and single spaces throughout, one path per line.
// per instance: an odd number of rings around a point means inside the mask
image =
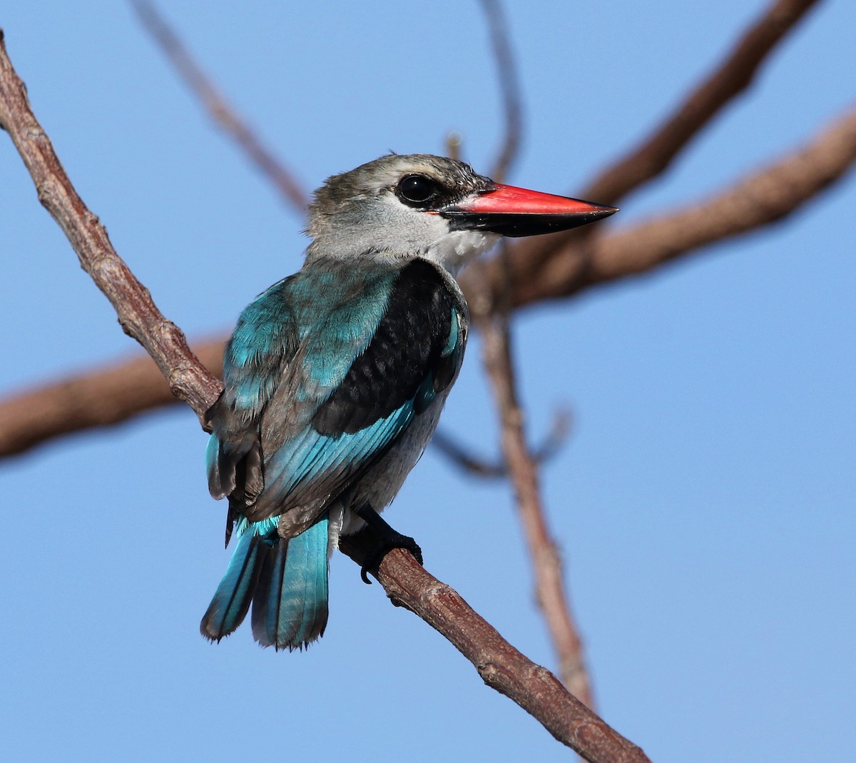
M 374 541 L 366 534 L 345 536 L 342 551 L 360 565 Z M 389 551 L 372 569 L 393 604 L 412 611 L 436 629 L 479 671 L 490 688 L 514 700 L 559 742 L 585 760 L 643 763 L 645 753 L 603 723 L 546 668 L 505 641 L 460 593 L 419 566 L 407 551 Z

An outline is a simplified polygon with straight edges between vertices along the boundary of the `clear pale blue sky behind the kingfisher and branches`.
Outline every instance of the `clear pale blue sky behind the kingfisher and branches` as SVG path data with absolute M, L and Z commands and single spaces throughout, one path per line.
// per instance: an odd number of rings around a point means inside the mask
M 81 7 L 82 6 L 82 7 Z M 502 122 L 475 3 L 172 3 L 169 19 L 307 188 L 449 130 L 487 170 Z M 764 3 L 515 5 L 526 137 L 511 182 L 574 193 Z M 10 0 L 9 54 L 80 194 L 169 319 L 228 331 L 300 266 L 300 219 L 211 127 L 124 3 Z M 703 197 L 853 101 L 856 9 L 822 3 L 615 225 Z M 132 355 L 0 136 L 0 282 L 15 390 Z M 844 760 L 856 714 L 856 311 L 850 176 L 794 218 L 648 277 L 526 311 L 516 348 L 599 711 L 652 760 Z M 485 453 L 478 339 L 442 425 Z M 306 653 L 218 646 L 205 435 L 175 408 L 0 464 L 0 739 L 9 760 L 567 760 L 425 623 L 331 569 Z M 554 667 L 505 486 L 429 453 L 387 518 Z

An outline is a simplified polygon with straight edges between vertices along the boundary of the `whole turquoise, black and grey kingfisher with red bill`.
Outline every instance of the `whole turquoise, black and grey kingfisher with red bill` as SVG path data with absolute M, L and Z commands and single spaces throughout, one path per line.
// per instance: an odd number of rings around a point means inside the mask
M 241 313 L 206 414 L 208 486 L 229 500 L 236 543 L 202 635 L 220 641 L 252 605 L 262 647 L 308 646 L 327 624 L 330 554 L 366 525 L 380 539 L 375 562 L 398 546 L 421 563 L 379 512 L 461 369 L 469 312 L 455 275 L 503 235 L 613 212 L 429 154 L 392 153 L 315 192 L 304 264 Z

